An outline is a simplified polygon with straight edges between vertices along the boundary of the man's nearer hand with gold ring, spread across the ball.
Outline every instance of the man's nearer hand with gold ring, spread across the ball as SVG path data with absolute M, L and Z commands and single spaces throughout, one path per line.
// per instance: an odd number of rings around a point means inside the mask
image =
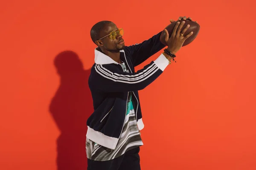
M 181 23 L 180 21 L 178 21 L 176 23 L 170 38 L 169 38 L 168 31 L 164 29 L 164 31 L 166 32 L 165 42 L 168 46 L 167 49 L 171 51 L 172 54 L 177 53 L 177 51 L 179 51 L 180 48 L 182 47 L 184 41 L 193 34 L 193 32 L 190 32 L 185 37 L 183 36 L 183 34 L 185 34 L 185 32 L 189 29 L 189 24 L 188 24 L 183 30 L 181 30 L 181 28 L 184 26 L 184 23 L 185 21 L 182 21 Z

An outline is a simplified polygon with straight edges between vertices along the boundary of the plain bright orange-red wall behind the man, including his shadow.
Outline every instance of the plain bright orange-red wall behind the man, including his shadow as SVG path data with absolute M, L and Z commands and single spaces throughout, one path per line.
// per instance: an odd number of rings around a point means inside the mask
M 131 45 L 162 31 L 169 19 L 187 16 L 201 25 L 197 39 L 140 91 L 142 169 L 255 170 L 255 5 L 1 1 L 0 169 L 85 169 L 86 118 L 92 112 L 87 78 L 95 48 L 90 28 L 111 20 Z

